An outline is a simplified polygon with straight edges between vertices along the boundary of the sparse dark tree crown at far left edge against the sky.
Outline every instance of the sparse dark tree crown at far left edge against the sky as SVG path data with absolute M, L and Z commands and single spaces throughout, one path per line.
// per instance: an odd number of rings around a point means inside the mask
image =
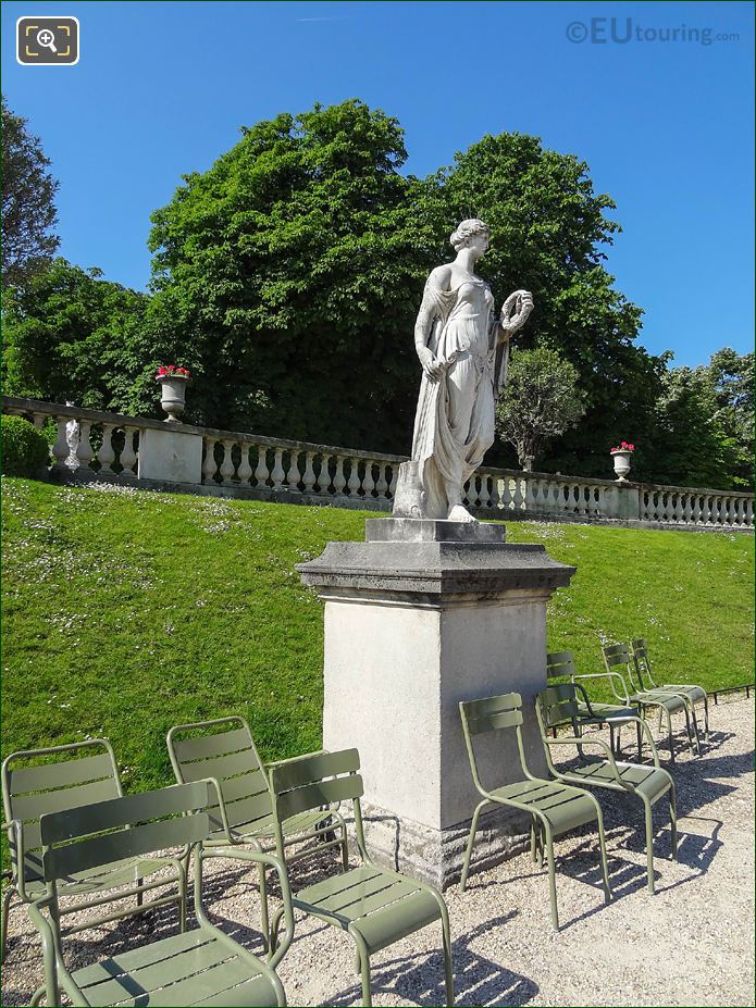
M 59 183 L 47 171 L 39 137 L 14 115 L 2 96 L 2 283 L 23 286 L 46 269 L 60 239 L 54 196 Z

